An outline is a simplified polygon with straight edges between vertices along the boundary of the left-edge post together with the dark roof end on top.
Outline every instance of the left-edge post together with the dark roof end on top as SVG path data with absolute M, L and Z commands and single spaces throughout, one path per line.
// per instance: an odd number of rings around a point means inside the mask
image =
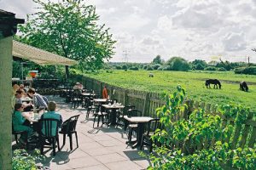
M 18 24 L 15 14 L 0 10 L 0 169 L 12 169 L 12 71 L 13 35 Z

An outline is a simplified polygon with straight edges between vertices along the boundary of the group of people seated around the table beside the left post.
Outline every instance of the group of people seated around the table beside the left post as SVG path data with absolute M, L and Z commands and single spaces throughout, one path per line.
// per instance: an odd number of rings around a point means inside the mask
M 38 123 L 38 119 L 51 118 L 58 120 L 58 127 L 61 127 L 62 116 L 57 113 L 55 101 L 48 101 L 43 95 L 37 94 L 34 88 L 24 88 L 23 84 L 13 85 L 13 130 L 22 131 L 26 133 L 20 134 L 20 144 L 26 144 L 27 141 L 38 137 L 38 133 L 44 133 L 44 126 L 41 129 Z M 34 119 L 34 113 L 36 111 L 44 111 L 40 117 Z M 24 112 L 27 111 L 27 112 Z M 37 114 L 37 113 L 35 113 Z

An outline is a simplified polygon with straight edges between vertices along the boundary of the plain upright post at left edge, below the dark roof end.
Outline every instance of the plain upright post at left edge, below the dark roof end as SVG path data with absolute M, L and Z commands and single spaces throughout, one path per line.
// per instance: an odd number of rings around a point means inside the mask
M 12 47 L 13 37 L 0 39 L 0 169 L 12 167 Z

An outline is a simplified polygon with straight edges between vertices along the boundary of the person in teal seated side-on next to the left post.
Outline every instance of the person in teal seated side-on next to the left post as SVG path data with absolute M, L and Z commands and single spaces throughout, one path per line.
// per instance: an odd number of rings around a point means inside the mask
M 15 131 L 26 131 L 26 134 L 21 134 L 20 143 L 26 144 L 27 138 L 33 133 L 33 129 L 29 127 L 30 122 L 28 122 L 21 114 L 23 111 L 22 104 L 15 104 L 15 112 L 13 114 L 13 125 Z

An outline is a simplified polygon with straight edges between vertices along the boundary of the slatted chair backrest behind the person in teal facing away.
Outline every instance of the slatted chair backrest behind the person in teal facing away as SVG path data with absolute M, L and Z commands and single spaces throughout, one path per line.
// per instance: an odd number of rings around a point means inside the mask
M 43 118 L 39 120 L 40 133 L 45 137 L 55 137 L 58 134 L 58 123 L 57 119 Z

